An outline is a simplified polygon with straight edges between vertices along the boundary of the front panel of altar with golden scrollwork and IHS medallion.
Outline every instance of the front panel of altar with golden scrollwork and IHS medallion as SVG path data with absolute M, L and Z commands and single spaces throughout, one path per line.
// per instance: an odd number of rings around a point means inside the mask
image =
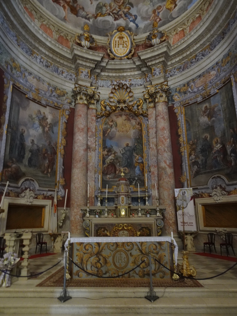
M 169 277 L 169 272 L 160 264 L 167 265 L 167 242 L 77 242 L 74 246 L 76 264 L 74 278 L 94 276 L 113 277 L 127 273 L 126 278 L 149 276 L 149 254 L 152 255 L 152 274 L 158 278 Z M 131 268 L 135 268 L 130 271 Z M 88 273 L 92 275 L 88 275 Z

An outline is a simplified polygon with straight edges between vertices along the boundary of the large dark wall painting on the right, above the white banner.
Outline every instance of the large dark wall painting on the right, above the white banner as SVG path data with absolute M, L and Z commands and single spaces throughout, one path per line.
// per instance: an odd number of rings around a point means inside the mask
M 211 98 L 185 107 L 191 186 L 215 174 L 237 180 L 237 120 L 231 82 Z

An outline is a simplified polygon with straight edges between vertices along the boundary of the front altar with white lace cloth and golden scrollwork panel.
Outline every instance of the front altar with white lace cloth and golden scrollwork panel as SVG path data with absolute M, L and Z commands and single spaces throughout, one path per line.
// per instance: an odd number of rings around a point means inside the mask
M 91 286 L 98 278 L 149 279 L 149 254 L 153 277 L 171 279 L 178 257 L 171 237 L 72 237 L 70 257 L 75 264 L 69 270 L 73 279 L 90 279 Z

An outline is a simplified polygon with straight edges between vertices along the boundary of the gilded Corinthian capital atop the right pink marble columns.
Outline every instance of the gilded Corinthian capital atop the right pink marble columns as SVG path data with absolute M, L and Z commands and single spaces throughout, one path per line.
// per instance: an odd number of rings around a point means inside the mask
M 170 94 L 167 81 L 161 84 L 155 84 L 146 90 L 144 99 L 147 101 L 147 107 L 153 107 L 157 102 L 168 102 Z

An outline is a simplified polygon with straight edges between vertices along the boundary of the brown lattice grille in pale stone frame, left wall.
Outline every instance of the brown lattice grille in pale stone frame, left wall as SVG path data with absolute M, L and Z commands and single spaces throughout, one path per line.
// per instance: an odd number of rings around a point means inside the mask
M 43 228 L 45 207 L 35 205 L 11 205 L 8 206 L 8 229 Z

